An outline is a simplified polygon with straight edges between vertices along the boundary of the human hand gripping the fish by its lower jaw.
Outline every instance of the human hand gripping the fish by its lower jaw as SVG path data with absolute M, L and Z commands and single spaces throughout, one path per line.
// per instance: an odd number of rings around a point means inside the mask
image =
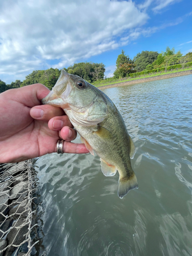
M 57 152 L 62 138 L 64 153 L 89 153 L 76 138 L 69 118 L 62 109 L 41 105 L 49 89 L 32 84 L 0 94 L 0 162 L 19 162 Z

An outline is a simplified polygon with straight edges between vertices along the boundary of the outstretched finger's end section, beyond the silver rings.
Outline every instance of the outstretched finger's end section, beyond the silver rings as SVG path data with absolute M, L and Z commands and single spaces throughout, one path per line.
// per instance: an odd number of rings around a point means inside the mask
M 55 147 L 55 152 L 57 152 L 57 148 Z M 63 142 L 63 152 L 64 153 L 72 153 L 72 154 L 84 154 L 89 153 L 86 148 L 86 145 L 83 143 L 77 144 L 69 141 Z

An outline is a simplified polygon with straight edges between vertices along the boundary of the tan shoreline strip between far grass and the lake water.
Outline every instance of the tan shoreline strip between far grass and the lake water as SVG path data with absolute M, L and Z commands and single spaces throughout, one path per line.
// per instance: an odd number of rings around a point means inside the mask
M 160 80 L 160 79 L 172 78 L 172 77 L 177 77 L 177 76 L 185 76 L 185 75 L 191 75 L 191 74 L 192 74 L 192 70 L 186 70 L 186 71 L 176 72 L 173 74 L 164 74 L 164 75 L 159 75 L 159 76 L 140 78 L 140 79 L 132 80 L 132 81 L 108 84 L 108 86 L 99 86 L 97 88 L 99 90 L 102 90 L 102 89 L 113 88 L 113 87 L 128 86 L 129 84 L 131 85 L 131 84 L 135 84 L 135 83 L 149 82 L 149 81 L 155 81 L 155 80 Z

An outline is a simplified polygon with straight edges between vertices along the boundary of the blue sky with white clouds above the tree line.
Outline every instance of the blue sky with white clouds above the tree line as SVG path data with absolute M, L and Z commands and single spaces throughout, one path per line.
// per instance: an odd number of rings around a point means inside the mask
M 0 79 L 33 70 L 104 63 L 113 76 L 123 49 L 131 58 L 166 47 L 192 52 L 191 0 L 0 1 Z

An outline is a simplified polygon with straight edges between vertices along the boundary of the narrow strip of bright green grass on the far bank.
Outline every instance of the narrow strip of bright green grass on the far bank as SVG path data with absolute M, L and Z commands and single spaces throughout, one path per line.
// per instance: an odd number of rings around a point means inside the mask
M 157 76 L 163 76 L 163 75 L 168 75 L 168 74 L 173 74 L 174 73 L 182 73 L 183 71 L 190 71 L 192 70 L 191 67 L 189 67 L 188 69 L 185 68 L 185 69 L 182 69 L 182 70 L 173 70 L 173 71 L 162 71 L 161 73 L 158 72 L 158 73 L 154 73 L 152 75 L 149 75 L 149 74 L 145 74 L 145 75 L 140 75 L 140 76 L 137 76 L 137 77 L 128 77 L 126 79 L 121 79 L 121 80 L 116 80 L 116 81 L 109 81 L 109 83 L 102 83 L 102 84 L 95 84 L 95 87 L 103 87 L 103 86 L 111 86 L 112 84 L 118 84 L 118 83 L 124 83 L 124 82 L 130 82 L 130 81 L 135 81 L 135 80 L 140 80 L 140 79 L 143 79 L 143 78 L 151 78 L 151 77 L 157 77 Z M 161 79 L 161 78 L 159 78 Z

